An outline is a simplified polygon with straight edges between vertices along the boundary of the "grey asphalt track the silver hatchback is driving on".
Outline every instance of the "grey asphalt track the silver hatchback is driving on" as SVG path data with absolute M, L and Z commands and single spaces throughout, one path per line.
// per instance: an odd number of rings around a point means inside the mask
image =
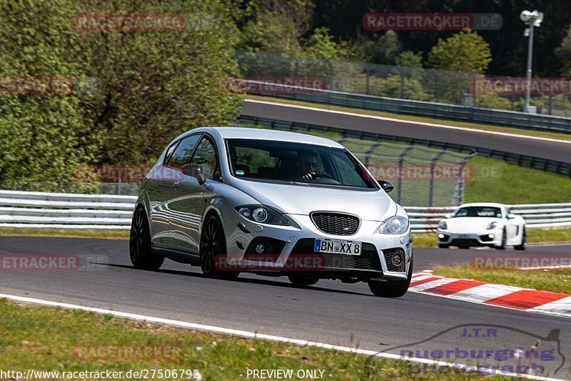
M 526 254 L 570 250 L 570 246 L 529 247 Z M 430 264 L 469 262 L 474 254 L 485 252 L 494 250 L 416 249 L 415 270 Z M 254 274 L 242 274 L 236 281 L 208 279 L 197 267 L 168 259 L 159 271 L 137 270 L 128 260 L 127 240 L 2 236 L 0 254 L 76 254 L 81 263 L 71 271 L 4 269 L 0 276 L 3 294 L 377 351 L 427 340 L 464 324 L 505 325 L 539 336 L 560 329 L 561 352 L 571 359 L 571 320 L 564 317 L 414 292 L 383 299 L 373 297 L 364 283 L 320 280 L 314 287 L 293 287 L 285 277 Z M 87 259 L 99 265 L 84 267 Z M 510 340 L 513 347 L 533 344 L 523 334 Z M 456 337 L 442 335 L 425 345 L 450 347 L 456 341 Z M 556 377 L 566 377 L 565 372 Z

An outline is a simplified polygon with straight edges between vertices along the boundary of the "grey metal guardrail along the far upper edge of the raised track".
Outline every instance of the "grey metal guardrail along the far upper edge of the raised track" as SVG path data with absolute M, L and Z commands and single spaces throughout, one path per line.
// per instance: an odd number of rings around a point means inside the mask
M 482 109 L 480 107 L 464 107 L 455 104 L 413 101 L 408 99 L 375 97 L 372 95 L 352 94 L 341 91 L 311 89 L 300 86 L 279 85 L 279 90 L 273 89 L 276 84 L 263 81 L 244 79 L 248 84 L 248 94 L 265 95 L 269 97 L 296 99 L 298 101 L 333 104 L 342 107 L 355 107 L 396 114 L 418 115 L 439 119 L 451 119 L 460 122 L 482 124 L 499 124 L 523 129 L 534 129 L 547 132 L 563 132 L 571 134 L 571 119 L 552 117 L 542 114 L 527 114 L 498 109 Z M 263 85 L 272 86 L 270 90 Z

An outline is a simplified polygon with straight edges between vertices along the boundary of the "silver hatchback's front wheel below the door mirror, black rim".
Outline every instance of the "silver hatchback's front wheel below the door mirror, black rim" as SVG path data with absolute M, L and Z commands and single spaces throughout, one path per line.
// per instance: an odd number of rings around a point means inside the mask
M 236 279 L 239 272 L 225 271 L 216 268 L 215 261 L 226 255 L 226 237 L 220 219 L 215 214 L 208 214 L 202 225 L 200 258 L 201 269 L 207 277 Z

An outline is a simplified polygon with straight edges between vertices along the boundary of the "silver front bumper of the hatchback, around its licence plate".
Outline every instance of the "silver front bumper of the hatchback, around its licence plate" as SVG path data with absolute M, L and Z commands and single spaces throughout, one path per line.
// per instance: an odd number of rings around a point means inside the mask
M 288 227 L 256 224 L 237 217 L 230 229 L 225 227 L 226 232 L 231 231 L 226 234 L 227 260 L 234 271 L 360 280 L 407 277 L 413 255 L 410 229 L 405 234 L 380 234 L 381 222 L 363 220 L 355 234 L 338 236 L 320 232 L 305 215 L 288 214 L 292 222 Z M 315 239 L 362 242 L 363 247 L 360 255 L 319 253 L 314 251 Z M 269 251 L 256 252 L 258 244 L 264 244 Z M 392 260 L 399 255 L 402 264 Z

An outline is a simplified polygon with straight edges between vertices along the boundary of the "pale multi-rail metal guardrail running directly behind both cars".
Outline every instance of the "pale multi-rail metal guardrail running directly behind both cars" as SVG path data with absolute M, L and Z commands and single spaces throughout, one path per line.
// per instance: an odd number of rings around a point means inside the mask
M 129 229 L 135 196 L 0 191 L 0 227 Z M 431 232 L 456 207 L 405 207 L 413 232 Z M 517 204 L 527 227 L 571 226 L 571 203 Z

